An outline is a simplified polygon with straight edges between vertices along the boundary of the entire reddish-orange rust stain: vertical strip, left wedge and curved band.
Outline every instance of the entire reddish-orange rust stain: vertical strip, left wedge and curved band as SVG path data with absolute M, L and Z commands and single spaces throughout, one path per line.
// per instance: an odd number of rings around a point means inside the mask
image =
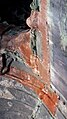
M 58 103 L 57 95 L 49 90 L 50 73 L 49 73 L 49 49 L 47 43 L 47 26 L 46 26 L 46 0 L 41 0 L 41 11 L 31 11 L 30 17 L 27 19 L 27 24 L 31 29 L 36 29 L 41 32 L 42 36 L 42 61 L 38 56 L 34 56 L 30 47 L 30 32 L 20 33 L 19 35 L 10 37 L 4 35 L 2 42 L 4 48 L 11 51 L 19 51 L 21 57 L 25 60 L 25 64 L 30 67 L 33 73 L 39 75 L 38 80 L 35 76 L 30 75 L 25 71 L 20 71 L 16 68 L 11 68 L 10 72 L 5 77 L 14 79 L 23 85 L 34 90 L 39 98 L 44 102 L 48 109 L 55 114 Z M 47 87 L 45 88 L 45 85 Z

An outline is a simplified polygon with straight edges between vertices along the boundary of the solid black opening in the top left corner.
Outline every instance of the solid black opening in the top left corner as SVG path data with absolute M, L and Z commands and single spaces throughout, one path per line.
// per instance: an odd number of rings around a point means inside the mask
M 1 0 L 0 23 L 6 21 L 8 24 L 27 29 L 26 19 L 31 13 L 31 3 L 32 0 Z

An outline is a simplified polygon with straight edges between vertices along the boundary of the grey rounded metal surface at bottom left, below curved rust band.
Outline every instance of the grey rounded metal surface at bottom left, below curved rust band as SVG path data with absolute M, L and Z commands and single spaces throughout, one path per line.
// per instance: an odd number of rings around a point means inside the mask
M 0 78 L 0 119 L 50 119 L 38 96 L 15 80 Z

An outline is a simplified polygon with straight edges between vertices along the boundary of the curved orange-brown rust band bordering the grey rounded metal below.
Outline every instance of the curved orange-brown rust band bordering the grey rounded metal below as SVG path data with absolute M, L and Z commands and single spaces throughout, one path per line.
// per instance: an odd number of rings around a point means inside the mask
M 41 82 L 41 80 L 38 80 L 35 76 L 16 68 L 11 68 L 10 72 L 4 76 L 14 79 L 34 90 L 39 98 L 46 104 L 52 114 L 55 114 L 58 101 L 57 95 L 54 92 L 51 92 L 48 87 L 45 88 L 45 85 L 43 82 Z

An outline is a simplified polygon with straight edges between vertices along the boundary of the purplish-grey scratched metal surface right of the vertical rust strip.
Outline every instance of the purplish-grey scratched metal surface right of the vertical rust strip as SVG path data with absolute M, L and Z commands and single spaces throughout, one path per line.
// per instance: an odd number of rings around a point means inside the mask
M 50 67 L 52 88 L 60 96 L 56 118 L 67 118 L 67 57 L 62 47 L 66 46 L 66 1 L 50 0 L 48 9 L 48 31 L 50 44 Z M 63 37 L 63 38 L 62 38 Z M 63 43 L 61 45 L 61 43 Z M 62 108 L 63 107 L 63 108 Z

